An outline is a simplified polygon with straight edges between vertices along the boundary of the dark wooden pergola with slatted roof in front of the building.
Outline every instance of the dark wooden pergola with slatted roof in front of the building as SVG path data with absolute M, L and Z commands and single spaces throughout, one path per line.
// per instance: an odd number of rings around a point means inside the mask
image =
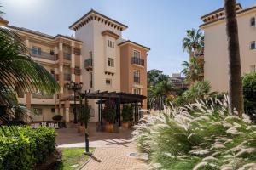
M 134 105 L 134 122 L 137 124 L 138 122 L 138 107 L 143 106 L 143 100 L 147 99 L 146 96 L 140 94 L 128 94 L 124 92 L 108 92 L 108 91 L 96 91 L 96 92 L 87 92 L 81 94 L 83 99 L 97 99 L 96 104 L 98 105 L 98 117 L 101 126 L 103 125 L 103 104 L 108 102 L 109 100 L 114 100 L 116 105 L 116 119 L 115 122 L 119 123 L 119 127 L 121 126 L 121 105 L 122 104 L 133 104 Z

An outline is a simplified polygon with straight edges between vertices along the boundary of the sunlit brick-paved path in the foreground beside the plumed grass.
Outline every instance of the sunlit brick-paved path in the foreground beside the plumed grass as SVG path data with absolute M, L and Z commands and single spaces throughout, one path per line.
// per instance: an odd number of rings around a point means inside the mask
M 128 156 L 135 148 L 96 148 L 93 157 L 82 170 L 144 170 L 146 164 Z

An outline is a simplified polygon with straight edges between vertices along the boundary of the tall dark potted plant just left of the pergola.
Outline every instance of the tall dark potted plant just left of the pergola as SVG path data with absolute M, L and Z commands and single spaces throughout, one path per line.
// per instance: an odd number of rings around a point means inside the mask
M 82 104 L 82 99 L 80 100 L 80 104 Z M 79 108 L 79 133 L 85 134 L 85 124 L 87 125 L 90 120 L 90 105 L 88 105 L 88 100 L 84 101 L 84 104 L 80 105 Z

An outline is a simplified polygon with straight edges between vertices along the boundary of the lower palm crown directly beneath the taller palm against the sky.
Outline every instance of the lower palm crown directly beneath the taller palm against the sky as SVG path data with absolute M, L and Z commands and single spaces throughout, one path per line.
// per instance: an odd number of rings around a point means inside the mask
M 183 69 L 182 73 L 185 75 L 187 82 L 192 84 L 196 81 L 201 81 L 203 69 L 195 57 L 191 58 L 189 62 L 183 61 L 183 66 L 185 68 Z

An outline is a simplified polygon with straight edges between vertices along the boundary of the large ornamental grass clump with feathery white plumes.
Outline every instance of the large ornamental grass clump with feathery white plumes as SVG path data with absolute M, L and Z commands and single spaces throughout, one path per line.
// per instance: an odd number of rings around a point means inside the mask
M 256 168 L 256 126 L 227 107 L 224 97 L 167 108 L 136 126 L 133 141 L 155 169 Z

